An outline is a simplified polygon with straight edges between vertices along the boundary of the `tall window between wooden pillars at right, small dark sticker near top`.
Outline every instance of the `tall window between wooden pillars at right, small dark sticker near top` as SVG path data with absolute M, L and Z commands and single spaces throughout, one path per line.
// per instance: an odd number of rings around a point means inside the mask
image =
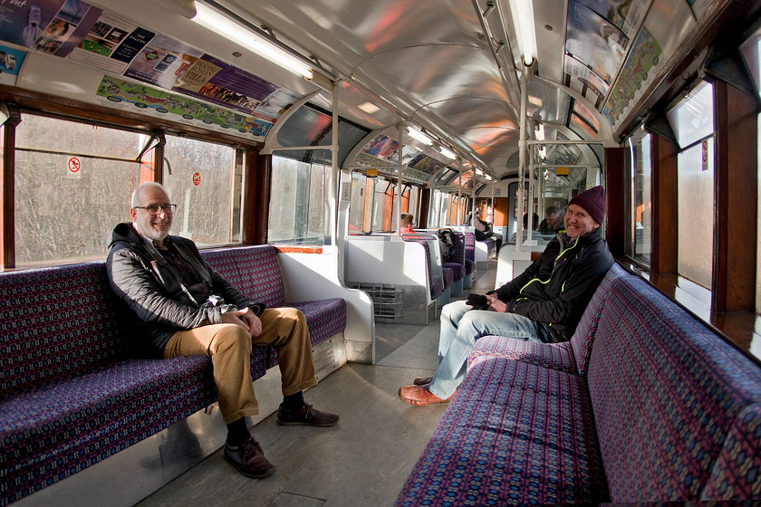
M 713 273 L 713 86 L 701 82 L 668 112 L 678 164 L 678 270 L 707 289 Z

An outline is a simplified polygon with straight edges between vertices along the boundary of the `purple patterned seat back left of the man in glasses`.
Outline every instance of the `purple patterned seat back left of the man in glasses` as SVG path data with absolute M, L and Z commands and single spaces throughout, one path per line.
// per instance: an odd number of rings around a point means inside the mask
M 0 273 L 0 399 L 126 359 L 104 262 Z

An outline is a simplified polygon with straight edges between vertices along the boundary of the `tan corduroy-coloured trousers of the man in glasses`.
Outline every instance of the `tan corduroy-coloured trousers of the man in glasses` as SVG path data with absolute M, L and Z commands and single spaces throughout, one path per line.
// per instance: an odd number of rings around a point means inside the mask
M 268 308 L 259 319 L 262 332 L 254 338 L 236 324 L 209 324 L 176 332 L 164 348 L 165 359 L 211 358 L 219 410 L 226 424 L 259 413 L 251 380 L 252 343 L 272 345 L 277 350 L 284 396 L 317 384 L 312 344 L 302 312 L 294 308 Z

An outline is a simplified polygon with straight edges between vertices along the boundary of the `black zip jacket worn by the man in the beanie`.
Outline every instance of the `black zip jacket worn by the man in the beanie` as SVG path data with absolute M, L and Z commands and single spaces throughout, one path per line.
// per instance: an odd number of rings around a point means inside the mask
M 496 290 L 507 311 L 550 325 L 556 341 L 571 340 L 592 294 L 613 264 L 602 227 L 564 244 L 557 234 L 524 273 Z

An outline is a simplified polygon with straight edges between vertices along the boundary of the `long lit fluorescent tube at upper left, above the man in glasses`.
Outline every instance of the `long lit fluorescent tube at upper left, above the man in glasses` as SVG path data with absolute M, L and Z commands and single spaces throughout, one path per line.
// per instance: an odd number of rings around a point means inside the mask
M 267 41 L 265 38 L 260 37 L 226 16 L 217 13 L 217 11 L 208 5 L 196 2 L 196 12 L 197 14 L 193 16 L 192 20 L 197 24 L 222 35 L 233 43 L 242 45 L 259 56 L 265 57 L 270 62 L 274 62 L 284 69 L 294 72 L 294 74 L 303 76 L 308 80 L 312 79 L 312 67 L 283 48 Z

